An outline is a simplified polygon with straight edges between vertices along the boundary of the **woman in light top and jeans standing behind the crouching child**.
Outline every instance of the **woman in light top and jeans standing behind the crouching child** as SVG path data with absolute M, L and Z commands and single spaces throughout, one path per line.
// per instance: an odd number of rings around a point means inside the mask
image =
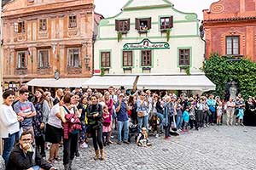
M 138 129 L 137 133 L 140 133 L 142 127 L 146 127 L 148 130 L 148 112 L 149 112 L 149 101 L 146 94 L 142 93 L 137 99 L 137 122 Z

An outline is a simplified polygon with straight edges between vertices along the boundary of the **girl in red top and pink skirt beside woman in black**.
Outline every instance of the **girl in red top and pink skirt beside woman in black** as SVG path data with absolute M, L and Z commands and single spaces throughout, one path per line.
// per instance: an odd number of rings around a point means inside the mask
M 102 133 L 102 141 L 104 146 L 108 144 L 108 136 L 111 131 L 111 116 L 108 112 L 108 105 L 103 106 L 103 133 Z

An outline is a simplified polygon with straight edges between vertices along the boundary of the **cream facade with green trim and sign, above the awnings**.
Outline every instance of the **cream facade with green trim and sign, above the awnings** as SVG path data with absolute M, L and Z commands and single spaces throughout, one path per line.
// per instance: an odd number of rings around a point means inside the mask
M 197 15 L 166 0 L 131 0 L 98 29 L 96 74 L 180 73 L 183 66 L 193 72 L 204 60 Z

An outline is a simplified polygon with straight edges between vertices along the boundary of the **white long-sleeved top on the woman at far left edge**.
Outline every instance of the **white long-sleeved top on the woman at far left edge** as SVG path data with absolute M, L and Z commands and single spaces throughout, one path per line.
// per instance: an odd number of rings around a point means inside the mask
M 20 123 L 12 106 L 1 105 L 0 108 L 0 137 L 9 138 L 9 134 L 20 131 Z

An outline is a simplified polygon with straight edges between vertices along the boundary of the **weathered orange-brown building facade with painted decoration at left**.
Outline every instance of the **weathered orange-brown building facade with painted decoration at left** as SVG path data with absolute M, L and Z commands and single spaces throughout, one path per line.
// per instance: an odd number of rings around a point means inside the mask
M 96 14 L 96 20 L 101 17 Z M 3 81 L 92 76 L 93 0 L 14 0 L 3 7 Z

